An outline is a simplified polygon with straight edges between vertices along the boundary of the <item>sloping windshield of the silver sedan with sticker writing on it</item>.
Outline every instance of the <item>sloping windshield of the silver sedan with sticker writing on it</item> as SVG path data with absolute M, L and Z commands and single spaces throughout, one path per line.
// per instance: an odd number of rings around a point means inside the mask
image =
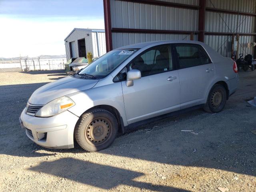
M 122 64 L 124 60 L 134 54 L 136 50 L 137 49 L 112 50 L 92 62 L 77 75 L 87 75 L 95 79 L 104 78 Z

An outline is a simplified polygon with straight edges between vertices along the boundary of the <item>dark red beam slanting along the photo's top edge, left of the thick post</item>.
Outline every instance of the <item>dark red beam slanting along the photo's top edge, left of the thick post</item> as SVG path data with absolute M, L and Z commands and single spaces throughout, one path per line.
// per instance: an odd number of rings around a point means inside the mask
M 199 9 L 199 6 L 195 6 L 195 5 L 164 2 L 159 0 L 120 0 L 120 1 L 142 3 L 142 4 L 149 4 L 149 5 L 159 5 L 159 6 L 166 6 L 166 7 L 177 7 L 177 8 L 184 8 L 184 9 L 194 9 L 194 10 Z

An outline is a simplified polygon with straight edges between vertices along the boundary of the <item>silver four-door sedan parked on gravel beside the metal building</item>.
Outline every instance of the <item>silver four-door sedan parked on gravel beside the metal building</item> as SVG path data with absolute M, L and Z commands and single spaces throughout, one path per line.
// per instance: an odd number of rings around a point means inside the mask
M 112 50 L 37 89 L 20 116 L 47 148 L 107 148 L 118 132 L 195 108 L 218 113 L 238 87 L 236 63 L 202 42 L 158 41 Z

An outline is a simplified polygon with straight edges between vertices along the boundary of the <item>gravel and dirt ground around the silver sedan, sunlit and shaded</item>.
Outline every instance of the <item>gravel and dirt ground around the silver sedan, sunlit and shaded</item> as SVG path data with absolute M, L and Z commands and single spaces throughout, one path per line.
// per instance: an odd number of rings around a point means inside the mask
M 256 71 L 240 73 L 222 112 L 147 124 L 94 153 L 42 148 L 20 128 L 32 92 L 64 75 L 0 73 L 0 191 L 256 192 L 256 108 L 246 102 L 256 96 Z

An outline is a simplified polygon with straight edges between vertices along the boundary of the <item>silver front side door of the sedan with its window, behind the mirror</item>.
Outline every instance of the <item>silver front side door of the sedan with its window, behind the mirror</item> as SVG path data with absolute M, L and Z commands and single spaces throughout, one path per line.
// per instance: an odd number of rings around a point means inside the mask
M 130 87 L 122 81 L 128 124 L 180 109 L 180 78 L 168 44 L 146 50 L 128 68 L 142 75 Z

